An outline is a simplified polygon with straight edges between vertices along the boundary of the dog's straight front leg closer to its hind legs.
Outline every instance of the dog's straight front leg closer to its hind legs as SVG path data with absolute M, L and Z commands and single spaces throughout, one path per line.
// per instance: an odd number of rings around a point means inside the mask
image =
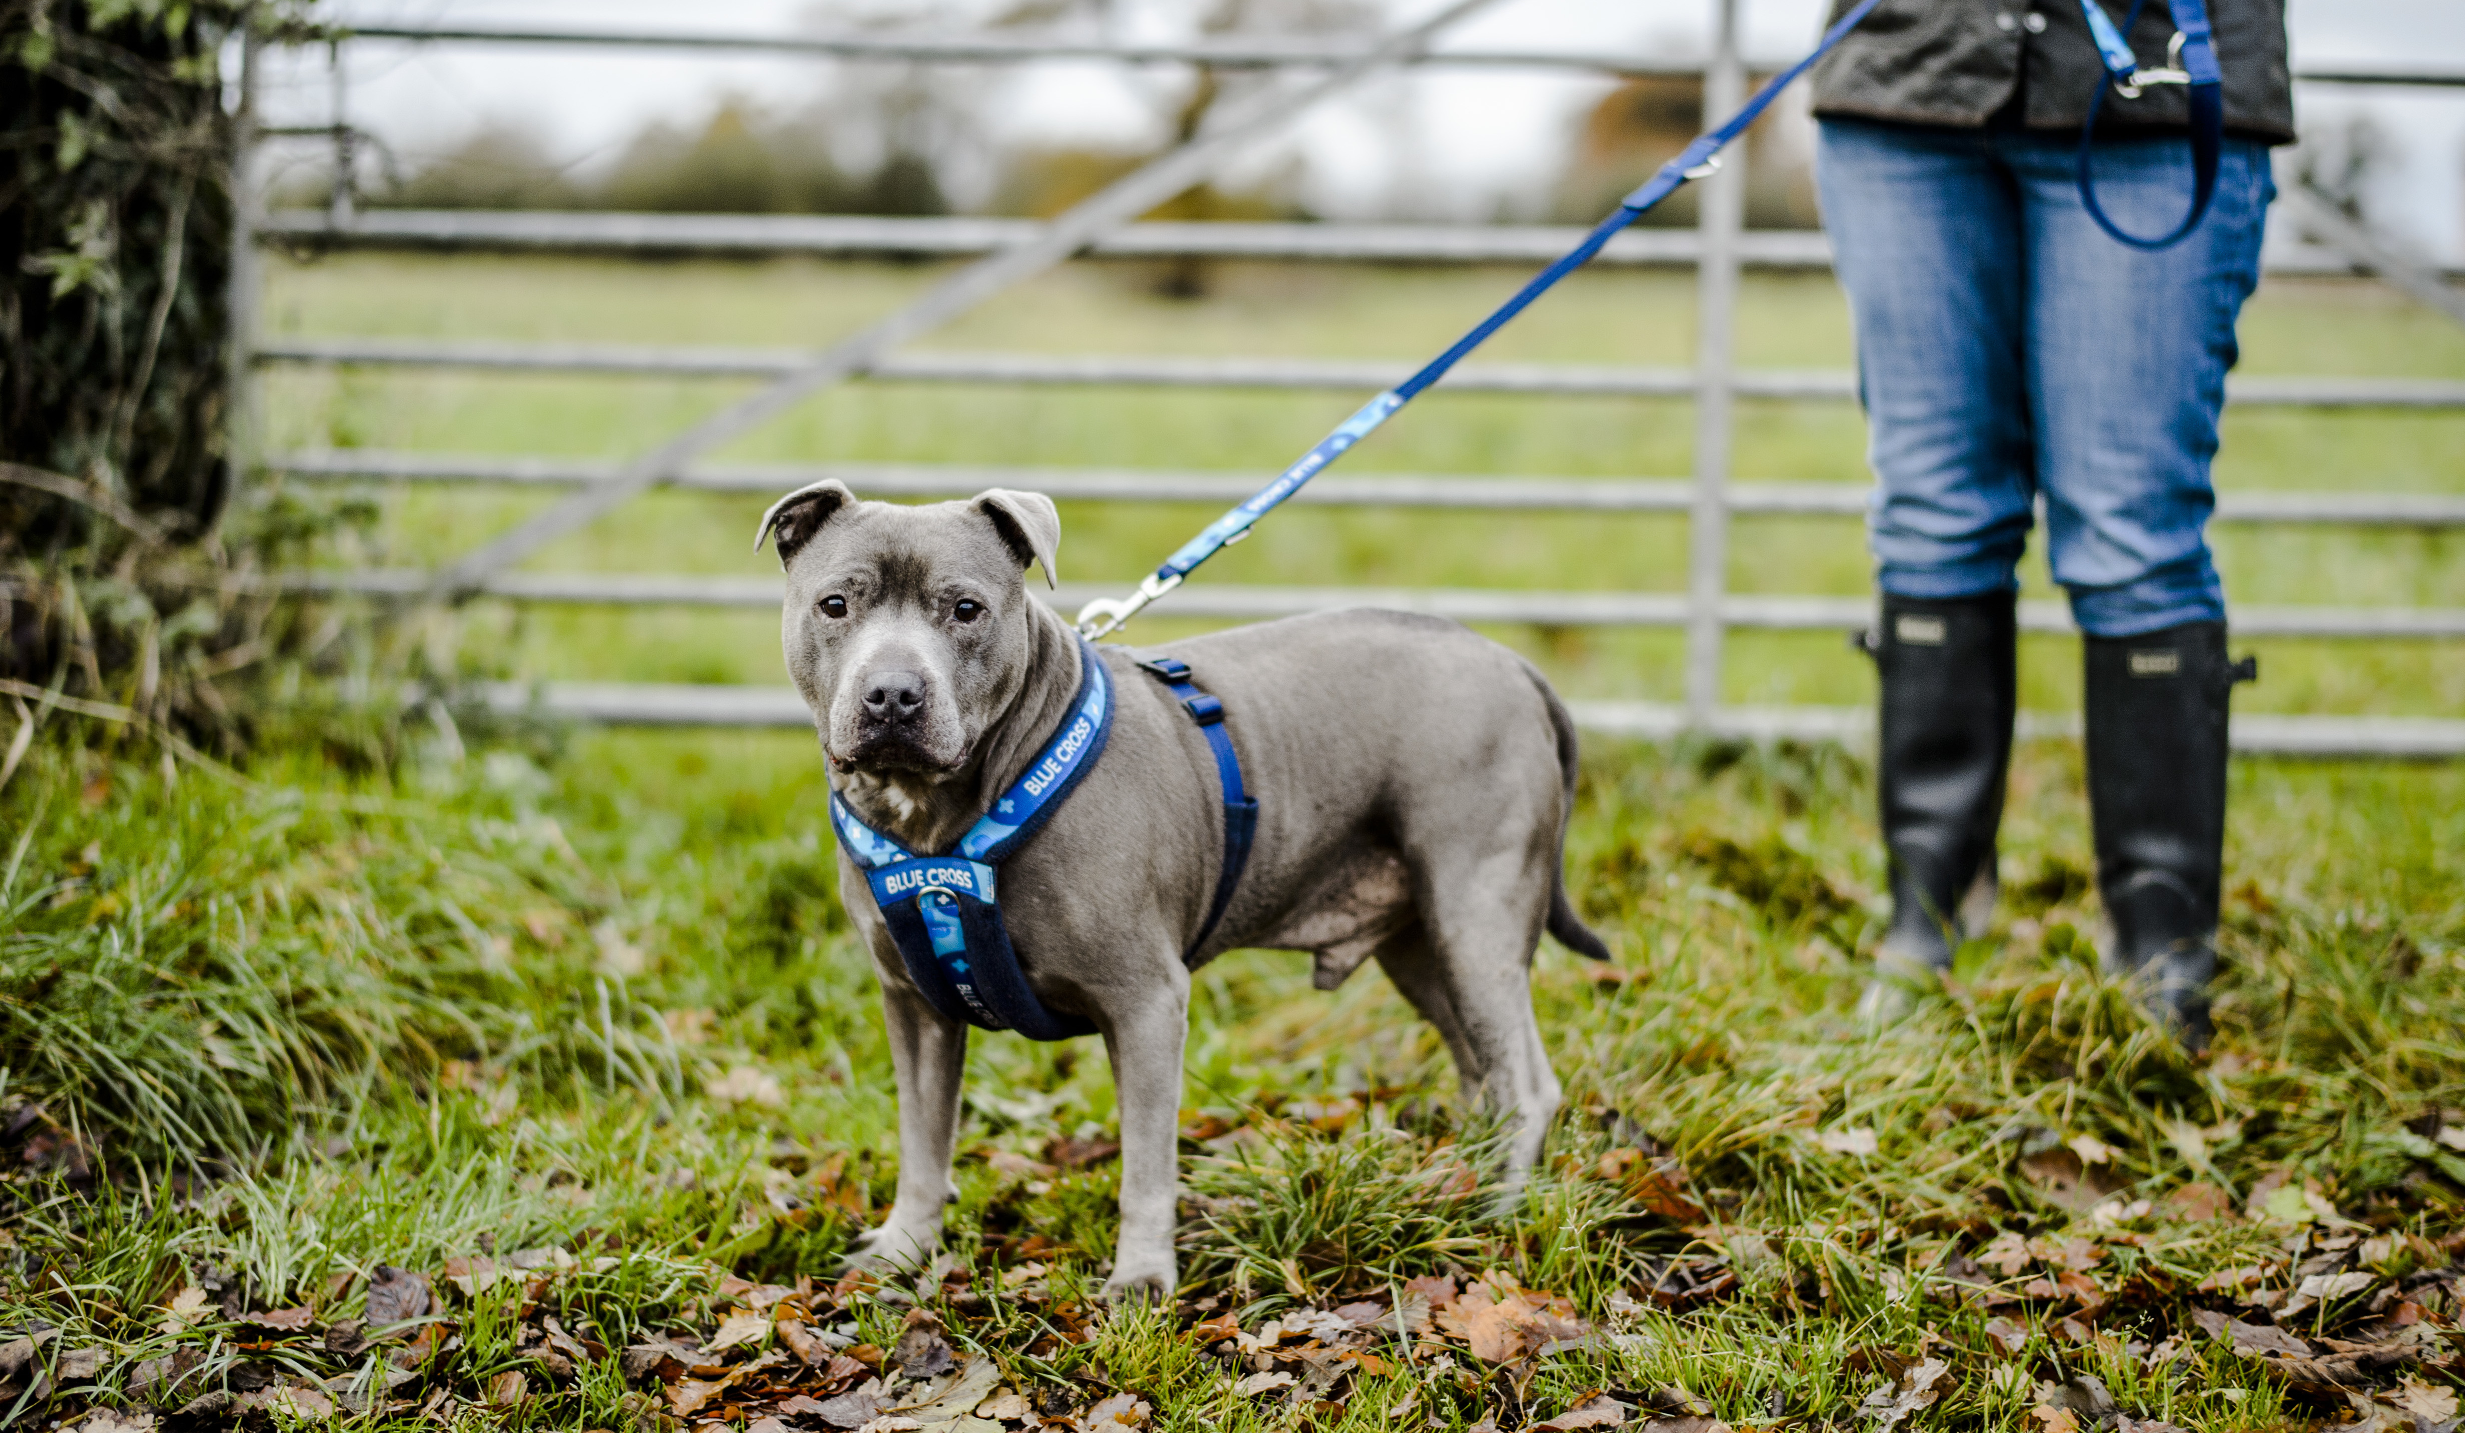
M 1114 1102 L 1122 1110 L 1122 1238 L 1107 1300 L 1173 1297 L 1173 1228 L 1181 1204 L 1181 1046 L 1188 1038 L 1191 979 L 1181 962 L 1127 1019 L 1104 1031 Z

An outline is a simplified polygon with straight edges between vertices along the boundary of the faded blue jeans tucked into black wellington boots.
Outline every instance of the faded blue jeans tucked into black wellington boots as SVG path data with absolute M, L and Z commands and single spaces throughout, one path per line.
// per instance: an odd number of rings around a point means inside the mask
M 1822 121 L 1817 187 L 1856 321 L 1896 597 L 2016 585 L 2036 498 L 2053 580 L 2093 636 L 2223 622 L 2209 459 L 2233 318 L 2260 279 L 2268 150 L 2226 141 L 2209 217 L 2162 252 L 2108 239 L 2078 136 Z M 2135 234 L 2191 202 L 2182 138 L 2103 141 L 2098 200 Z

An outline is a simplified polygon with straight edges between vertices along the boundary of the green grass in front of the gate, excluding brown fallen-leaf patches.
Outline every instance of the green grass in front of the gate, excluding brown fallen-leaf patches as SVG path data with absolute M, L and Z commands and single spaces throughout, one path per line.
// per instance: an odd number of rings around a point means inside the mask
M 611 1349 L 707 1334 L 722 1275 L 826 1280 L 858 1218 L 880 1216 L 887 1051 L 836 905 L 809 740 L 473 733 L 454 760 L 414 725 L 399 752 L 357 777 L 279 755 L 237 787 L 47 742 L 0 792 L 15 831 L 0 1102 L 42 1105 L 10 1137 L 22 1172 L 0 1218 L 0 1334 L 49 1324 L 62 1334 L 47 1349 L 104 1349 L 96 1391 L 67 1406 L 126 1398 L 165 1357 L 187 1379 L 173 1406 L 244 1386 L 244 1369 L 355 1366 L 219 1312 L 165 1332 L 163 1305 L 200 1280 L 244 1290 L 237 1312 L 301 1302 L 323 1324 L 360 1315 L 380 1263 L 434 1275 L 555 1246 L 579 1268 L 535 1295 L 454 1295 L 461 1342 L 404 1396 L 468 1398 L 532 1369 L 518 1426 L 626 1428 L 641 1406 L 614 1364 L 540 1381 L 518 1302 Z M 2036 1376 L 2083 1371 L 2184 1428 L 2329 1413 L 2196 1332 L 2194 1354 L 2164 1366 L 2125 1344 L 2186 1329 L 2194 1305 L 2231 1307 L 2196 1292 L 2216 1270 L 2297 1278 L 2283 1260 L 2305 1228 L 2186 1223 L 2164 1204 L 2184 1184 L 2241 1206 L 2268 1176 L 2310 1181 L 2398 1236 L 2374 1246 L 2389 1268 L 2421 1250 L 2440 1263 L 2435 1243 L 2465 1231 L 2465 1162 L 2421 1135 L 2465 1122 L 2465 770 L 2236 765 L 2228 969 L 2216 1053 L 2196 1063 L 2090 974 L 2080 772 L 2063 745 L 2019 762 L 2011 898 L 1962 952 L 1957 994 L 1861 1031 L 1849 1006 L 1881 888 L 1866 804 L 1866 772 L 1829 750 L 1590 755 L 1570 871 L 1620 950 L 1617 979 L 1555 947 L 1538 959 L 1568 1112 L 1506 1218 L 1467 1176 L 1484 1135 L 1435 1033 L 1375 972 L 1334 994 L 1289 955 L 1200 972 L 1186 1297 L 1230 1300 L 1218 1307 L 1257 1327 L 1417 1275 L 1499 1270 L 1615 1334 L 1504 1381 L 1462 1349 L 1440 1369 L 1425 1347 L 1356 1374 L 1316 1416 L 1329 1428 L 1380 1426 L 1408 1394 L 1454 1433 L 1664 1384 L 1730 1423 L 1846 1423 L 1883 1384 L 1871 1349 L 1952 1361 L 1955 1394 L 1920 1416 L 1940 1428 L 2014 1426 Z M 954 1337 L 1023 1386 L 1134 1389 L 1176 1433 L 1284 1426 L 1173 1320 L 1090 1310 L 1109 1162 L 1040 1179 L 984 1159 L 1043 1159 L 1112 1120 L 1097 1046 L 974 1043 L 951 1246 L 981 1292 L 942 1285 Z M 1871 1132 L 1876 1152 L 1814 1139 L 1844 1130 Z M 2149 1213 L 2098 1223 L 2031 1179 L 2031 1157 L 2083 1137 L 2113 1149 L 2115 1196 L 2152 1199 Z M 69 1139 L 111 1176 L 76 1181 Z M 1634 1147 L 1676 1162 L 1701 1223 L 1600 1176 Z M 2088 1344 L 2061 1334 L 2071 1310 L 2056 1300 L 1952 1297 L 1955 1255 L 1999 1231 L 2105 1248 L 2093 1278 L 2120 1295 Z M 1681 1255 L 1733 1270 L 1735 1292 L 1652 1307 Z M 1040 1278 L 998 1278 L 1030 1258 Z M 897 1312 L 860 1305 L 855 1332 L 887 1347 Z M 2021 1357 L 1989 1352 L 1989 1312 L 2029 1329 Z M 2305 1332 L 2334 1334 L 2364 1315 L 2315 1317 Z M 1072 1320 L 1092 1342 L 1050 1334 Z M 412 1418 L 362 1418 L 397 1421 Z

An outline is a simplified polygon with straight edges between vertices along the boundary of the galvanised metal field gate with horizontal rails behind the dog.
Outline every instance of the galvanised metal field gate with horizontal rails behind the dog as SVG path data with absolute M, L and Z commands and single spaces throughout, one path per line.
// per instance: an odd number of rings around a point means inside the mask
M 1447 17 L 1469 12 L 1481 0 L 1459 2 Z M 956 37 L 744 37 L 744 35 L 648 35 L 648 32 L 510 32 L 510 30 L 422 30 L 370 27 L 357 42 L 424 44 L 606 44 L 666 49 L 744 49 L 786 54 L 828 54 L 841 59 L 895 59 L 942 64 L 1023 64 L 1045 59 L 1117 59 L 1124 64 L 1208 64 L 1220 69 L 1324 72 L 1302 96 L 1284 101 L 1284 116 L 1311 99 L 1338 91 L 1351 79 L 1393 64 L 1528 67 L 1592 74 L 1703 74 L 1706 113 L 1726 113 L 1743 91 L 1745 62 L 1735 47 L 1738 0 L 1716 0 L 1716 42 L 1708 62 L 1671 64 L 1644 57 L 1590 57 L 1538 52 L 1440 52 L 1427 44 L 1444 22 L 1390 37 L 1378 49 L 1329 47 L 1299 39 L 1208 39 L 1193 44 L 1099 44 L 1077 39 L 1035 39 L 1016 35 Z M 592 215 L 592 212 L 362 212 L 350 202 L 348 173 L 352 146 L 362 138 L 348 121 L 340 84 L 340 42 L 333 49 L 333 121 L 328 126 L 264 131 L 261 138 L 316 138 L 335 146 L 335 197 L 328 210 L 259 212 L 244 205 L 244 220 L 259 242 L 318 247 L 394 247 L 446 252 L 597 252 L 597 254 L 836 254 L 836 257 L 954 257 L 979 266 L 1011 259 L 1011 271 L 979 284 L 996 291 L 1025 274 L 1040 271 L 1035 259 L 1021 259 L 1043 242 L 1055 249 L 1055 229 L 1030 220 L 890 220 L 890 217 L 801 217 L 801 215 Z M 254 54 L 249 64 L 254 76 Z M 2300 69 L 2297 79 L 2327 84 L 2408 84 L 2465 86 L 2465 69 L 2339 67 Z M 244 113 L 254 113 L 244 81 Z M 1257 131 L 1272 128 L 1272 118 Z M 244 123 L 244 133 L 249 126 Z M 1245 136 L 1228 136 L 1228 150 Z M 1149 170 L 1181 160 L 1203 178 L 1208 155 L 1176 150 Z M 1141 173 L 1149 173 L 1141 170 Z M 1176 170 L 1178 173 L 1178 170 Z M 254 153 L 244 155 L 242 175 L 254 175 Z M 1156 175 L 1171 183 L 1171 175 Z M 1691 478 L 1592 481 L 1592 478 L 1472 478 L 1472 476 L 1321 476 L 1302 491 L 1316 506 L 1385 506 L 1440 511 L 1558 511 L 1558 513 L 1686 513 L 1691 520 L 1691 562 L 1686 592 L 1504 592 L 1504 589 L 1366 589 L 1366 587 L 1240 587 L 1196 582 L 1178 589 L 1166 617 L 1262 619 L 1316 612 L 1338 604 L 1375 602 L 1454 617 L 1462 622 L 1541 624 L 1541 626 L 1681 626 L 1686 649 L 1686 703 L 1573 703 L 1578 720 L 1595 730 L 1627 735 L 1676 735 L 1684 730 L 1738 737 L 1854 737 L 1868 728 L 1868 713 L 1846 708 L 1723 708 L 1718 703 L 1721 649 L 1730 629 L 1856 629 L 1871 617 L 1871 602 L 1859 597 L 1770 597 L 1726 592 L 1728 518 L 1733 513 L 1770 515 L 1859 515 L 1866 493 L 1841 483 L 1733 483 L 1728 444 L 1735 400 L 1854 400 L 1849 372 L 1738 370 L 1730 363 L 1735 289 L 1740 266 L 1822 269 L 1829 244 L 1804 232 L 1743 232 L 1743 155 L 1703 185 L 1701 222 L 1693 232 L 1642 229 L 1610 244 L 1600 264 L 1691 264 L 1698 271 L 1698 363 L 1693 367 L 1583 367 L 1583 365 L 1464 365 L 1447 387 L 1459 392 L 1523 395 L 1629 395 L 1691 397 L 1696 402 L 1696 471 Z M 2334 212 L 2320 195 L 2288 185 L 2295 220 L 2310 229 L 2310 244 L 2278 247 L 2273 274 L 2376 274 L 2384 281 L 2433 303 L 2465 323 L 2465 296 L 2448 276 L 2428 271 L 2394 247 Z M 1114 205 L 1119 210 L 1119 205 Z M 1065 215 L 1077 222 L 1075 242 L 1050 252 L 1094 257 L 1215 257 L 1287 261 L 1405 261 L 1405 264 L 1528 264 L 1560 254 L 1580 229 L 1558 227 L 1432 227 L 1432 224 L 1163 224 L 1127 222 L 1146 205 L 1117 215 Z M 1082 207 L 1085 210 L 1085 207 Z M 1070 239 L 1072 234 L 1062 234 Z M 473 367 L 528 372 L 626 372 L 668 377 L 764 377 L 781 390 L 811 392 L 818 382 L 858 377 L 870 382 L 1013 382 L 1013 385 L 1104 385 L 1104 387 L 1277 387 L 1375 392 L 1400 365 L 1324 363 L 1324 360 L 1173 360 L 1173 358 L 1060 358 L 1025 353 L 897 353 L 880 343 L 848 353 L 816 355 L 801 350 L 730 350 L 685 345 L 597 345 L 597 343 L 412 343 L 412 340 L 256 340 L 254 264 L 234 274 L 234 313 L 246 338 L 246 363 L 311 365 L 409 365 Z M 949 313 L 927 313 L 897 335 L 929 328 Z M 2465 382 L 2379 380 L 2379 377 L 2236 377 L 2228 395 L 2238 407 L 2374 407 L 2374 409 L 2453 409 L 2465 412 Z M 749 422 L 759 422 L 754 414 Z M 747 424 L 749 427 L 749 424 Z M 742 427 L 732 429 L 744 432 Z M 693 444 L 693 434 L 680 439 Z M 675 446 L 675 444 L 670 444 Z M 675 486 L 717 493 L 776 493 L 818 476 L 841 476 L 868 496 L 964 496 L 984 486 L 1038 488 L 1055 498 L 1129 501 L 1129 503 L 1228 503 L 1247 496 L 1255 474 L 1203 471 L 1087 471 L 1016 469 L 981 464 L 700 464 L 703 441 L 693 451 L 661 454 L 636 464 L 579 464 L 550 459 L 471 459 L 385 451 L 264 454 L 269 469 L 311 481 L 439 481 L 439 483 L 515 483 L 550 486 L 577 493 L 567 515 L 542 533 L 498 538 L 451 572 L 323 572 L 296 575 L 291 587 L 316 592 L 357 592 L 397 599 L 439 599 L 488 594 L 513 602 L 582 604 L 685 604 L 685 607 L 776 607 L 776 580 L 643 577 L 643 575 L 532 575 L 513 565 L 547 535 L 572 530 L 582 520 L 648 486 Z M 651 471 L 656 469 L 656 471 Z M 594 501 L 597 498 L 597 501 Z M 2253 525 L 2339 525 L 2339 528 L 2460 528 L 2465 496 L 2398 493 L 2223 493 L 2216 518 Z M 532 520 L 537 525 L 540 520 Z M 550 530 L 552 528 L 552 530 Z M 1055 602 L 1075 609 L 1109 587 L 1065 587 Z M 2058 604 L 2024 604 L 2026 631 L 2068 631 Z M 2241 636 L 2317 636 L 2317 639 L 2465 639 L 2465 609 L 2406 607 L 2246 607 L 2233 609 Z M 508 703 L 532 693 L 500 693 Z M 759 723 L 806 725 L 811 718 L 789 688 L 707 688 L 707 686 L 621 686 L 560 683 L 545 688 L 550 708 L 614 723 Z M 2076 723 L 2024 715 L 2026 733 L 2068 733 Z M 2241 715 L 2236 747 L 2310 755 L 2465 755 L 2465 720 L 2418 718 L 2329 718 L 2329 715 Z

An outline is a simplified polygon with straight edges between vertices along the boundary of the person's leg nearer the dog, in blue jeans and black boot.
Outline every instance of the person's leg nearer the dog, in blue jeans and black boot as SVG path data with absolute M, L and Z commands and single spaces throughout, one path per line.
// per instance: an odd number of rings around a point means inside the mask
M 1868 649 L 1893 895 L 1876 967 L 1933 979 L 1992 908 L 2011 755 L 2011 570 L 2036 491 L 2019 192 L 1982 133 L 1827 121 L 1814 173 L 1876 474 Z

